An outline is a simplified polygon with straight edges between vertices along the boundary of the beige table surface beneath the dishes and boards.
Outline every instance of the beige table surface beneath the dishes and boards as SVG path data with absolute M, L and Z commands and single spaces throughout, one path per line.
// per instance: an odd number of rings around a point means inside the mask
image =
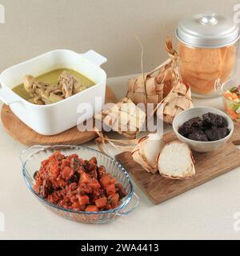
M 118 98 L 126 93 L 127 78 L 108 79 Z M 194 99 L 194 105 L 222 108 L 221 98 Z M 86 145 L 95 147 L 94 142 Z M 25 148 L 0 124 L 0 212 L 5 216 L 0 239 L 240 238 L 234 231 L 234 214 L 240 212 L 240 168 L 158 206 L 134 186 L 141 202 L 133 214 L 109 224 L 86 225 L 52 214 L 30 194 L 18 159 Z

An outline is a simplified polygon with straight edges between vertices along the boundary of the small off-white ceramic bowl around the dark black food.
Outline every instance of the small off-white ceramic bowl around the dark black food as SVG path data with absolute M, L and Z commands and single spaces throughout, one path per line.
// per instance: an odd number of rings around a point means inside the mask
M 191 140 L 189 138 L 185 138 L 184 136 L 178 133 L 179 127 L 182 126 L 184 122 L 190 120 L 191 118 L 197 118 L 197 117 L 202 118 L 202 114 L 206 114 L 208 112 L 219 114 L 219 115 L 222 115 L 223 118 L 226 118 L 226 121 L 228 123 L 228 129 L 230 130 L 230 134 L 228 134 L 225 138 L 219 139 L 218 141 L 198 142 L 198 141 Z M 173 129 L 179 141 L 185 142 L 186 144 L 188 144 L 190 146 L 190 149 L 203 153 L 203 152 L 209 152 L 209 151 L 215 150 L 219 146 L 222 146 L 223 144 L 225 144 L 230 139 L 230 137 L 234 132 L 234 122 L 231 120 L 231 118 L 227 114 L 225 114 L 221 110 L 218 110 L 212 107 L 198 106 L 189 110 L 182 111 L 182 113 L 178 114 L 178 116 L 174 118 Z

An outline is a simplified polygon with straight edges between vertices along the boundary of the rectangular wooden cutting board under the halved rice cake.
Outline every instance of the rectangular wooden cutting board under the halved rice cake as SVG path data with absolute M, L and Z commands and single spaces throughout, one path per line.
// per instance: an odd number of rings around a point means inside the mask
M 167 141 L 174 139 L 172 133 L 167 136 Z M 118 154 L 115 158 L 126 168 L 150 200 L 154 204 L 159 204 L 240 166 L 240 150 L 234 145 L 239 142 L 240 128 L 235 126 L 234 135 L 225 146 L 204 154 L 194 152 L 196 174 L 194 178 L 185 180 L 170 180 L 162 178 L 159 173 L 150 174 L 134 162 L 129 152 Z

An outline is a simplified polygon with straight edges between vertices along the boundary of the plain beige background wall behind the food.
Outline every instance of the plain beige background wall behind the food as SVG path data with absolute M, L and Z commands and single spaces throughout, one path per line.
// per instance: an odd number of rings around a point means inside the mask
M 179 18 L 205 10 L 233 14 L 234 0 L 0 0 L 0 70 L 67 48 L 94 49 L 108 58 L 109 77 L 140 72 L 141 38 L 145 70 L 166 59 L 166 34 L 174 36 Z M 240 2 L 239 2 L 240 3 Z

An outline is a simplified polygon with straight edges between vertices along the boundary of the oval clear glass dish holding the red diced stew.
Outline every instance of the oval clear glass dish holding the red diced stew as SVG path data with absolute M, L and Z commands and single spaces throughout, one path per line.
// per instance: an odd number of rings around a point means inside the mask
M 66 155 L 78 154 L 79 157 L 83 159 L 90 159 L 92 157 L 97 158 L 98 166 L 105 166 L 107 172 L 117 178 L 117 181 L 122 183 L 122 186 L 126 189 L 127 195 L 125 198 L 122 198 L 122 204 L 113 210 L 87 212 L 68 210 L 54 205 L 40 197 L 33 188 L 35 183 L 34 173 L 36 170 L 39 170 L 41 162 L 50 157 L 55 150 L 59 150 L 62 154 Z M 110 158 L 110 156 L 102 154 L 98 150 L 93 150 L 84 146 L 31 146 L 30 148 L 22 151 L 20 159 L 22 161 L 23 178 L 25 179 L 26 185 L 30 191 L 38 198 L 39 202 L 42 202 L 44 206 L 64 218 L 84 223 L 106 223 L 113 221 L 114 218 L 117 218 L 118 216 L 126 216 L 132 213 L 140 201 L 138 195 L 134 193 L 133 184 L 126 170 L 117 161 L 115 161 L 114 158 Z

